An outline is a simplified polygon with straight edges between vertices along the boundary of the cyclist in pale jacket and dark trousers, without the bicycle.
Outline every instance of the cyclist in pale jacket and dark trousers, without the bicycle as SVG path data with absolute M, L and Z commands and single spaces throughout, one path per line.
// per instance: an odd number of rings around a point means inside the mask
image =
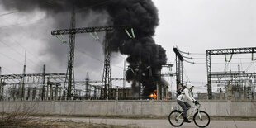
M 193 90 L 194 86 L 190 87 L 189 89 L 187 89 L 187 86 L 183 86 L 182 88 L 182 92 L 181 94 L 177 97 L 177 102 L 178 104 L 183 108 L 183 118 L 184 118 L 184 122 L 190 123 L 191 121 L 189 121 L 187 119 L 187 110 L 191 107 L 190 104 L 187 103 L 187 100 L 190 100 L 191 102 L 195 103 L 195 104 L 199 104 L 199 102 L 197 102 L 193 97 L 192 97 L 192 90 Z

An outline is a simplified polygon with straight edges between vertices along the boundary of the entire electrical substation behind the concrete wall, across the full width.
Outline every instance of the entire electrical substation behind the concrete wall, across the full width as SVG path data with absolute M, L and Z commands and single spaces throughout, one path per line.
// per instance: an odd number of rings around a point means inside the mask
M 124 65 L 124 75 L 120 78 L 111 77 L 111 41 L 108 40 L 113 32 L 123 32 L 131 41 L 136 40 L 135 26 L 94 26 L 76 28 L 75 6 L 72 9 L 72 17 L 69 29 L 51 31 L 52 36 L 56 36 L 62 43 L 69 44 L 68 67 L 63 73 L 45 73 L 46 65 L 42 65 L 41 73 L 26 73 L 26 64 L 21 74 L 2 74 L 0 75 L 0 98 L 3 101 L 44 101 L 44 100 L 168 100 L 175 99 L 173 90 L 169 85 L 163 83 L 163 79 L 176 78 L 176 89 L 183 87 L 183 63 L 195 64 L 187 61 L 192 59 L 187 57 L 189 53 L 173 48 L 176 55 L 175 62 L 162 64 L 161 67 L 154 68 L 149 64 L 142 64 L 141 53 L 137 64 Z M 101 80 L 91 80 L 87 73 L 85 80 L 75 81 L 74 47 L 76 34 L 89 33 L 95 40 L 99 40 L 98 32 L 105 32 L 104 39 L 104 65 Z M 69 35 L 69 42 L 61 39 L 64 35 Z M 125 43 L 124 43 L 125 44 Z M 159 52 L 159 51 L 158 51 Z M 255 99 L 255 73 L 246 73 L 238 68 L 237 71 L 216 72 L 211 69 L 211 56 L 225 55 L 225 62 L 230 62 L 232 55 L 251 54 L 254 62 L 255 47 L 233 48 L 233 49 L 214 49 L 206 50 L 206 76 L 207 93 L 198 94 L 202 99 Z M 226 59 L 226 55 L 231 55 Z M 150 58 L 149 58 L 150 60 Z M 173 65 L 175 64 L 175 73 Z M 239 66 L 238 66 L 239 67 Z M 161 73 L 161 69 L 168 68 L 170 72 Z M 133 79 L 127 79 L 126 74 L 132 74 Z M 129 77 L 130 78 L 130 77 Z M 147 79 L 147 80 L 145 80 Z M 151 80 L 150 80 L 151 79 Z M 132 81 L 131 87 L 126 87 L 126 80 Z M 113 81 L 120 81 L 122 85 L 113 86 Z M 221 83 L 225 86 L 219 93 L 212 92 L 212 84 Z M 148 87 L 148 84 L 150 86 Z M 175 93 L 175 92 L 174 92 Z M 173 97 L 174 96 L 174 97 Z

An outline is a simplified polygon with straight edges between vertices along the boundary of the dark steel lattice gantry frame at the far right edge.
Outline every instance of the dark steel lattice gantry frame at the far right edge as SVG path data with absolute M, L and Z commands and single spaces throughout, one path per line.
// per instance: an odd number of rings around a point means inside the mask
M 255 73 L 242 73 L 242 72 L 241 73 L 211 72 L 211 55 L 252 54 L 252 60 L 254 60 L 253 59 L 254 53 L 256 53 L 256 47 L 206 50 L 208 99 L 212 99 L 211 78 L 253 77 L 255 75 Z

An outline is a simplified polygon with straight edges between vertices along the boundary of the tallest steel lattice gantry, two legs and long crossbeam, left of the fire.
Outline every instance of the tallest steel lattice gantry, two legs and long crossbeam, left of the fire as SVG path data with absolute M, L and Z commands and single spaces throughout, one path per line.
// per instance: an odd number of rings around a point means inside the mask
M 51 31 L 51 35 L 68 35 L 69 34 L 69 61 L 68 61 L 68 69 L 67 75 L 68 78 L 68 99 L 72 97 L 71 87 L 74 85 L 74 73 L 73 73 L 73 61 L 74 61 L 74 46 L 75 46 L 75 34 L 78 33 L 91 33 L 91 32 L 111 32 L 118 29 L 128 29 L 130 26 L 94 26 L 94 27 L 83 27 L 83 28 L 75 28 L 75 12 L 73 7 L 72 13 L 72 22 L 71 29 L 63 29 L 63 30 L 55 30 Z M 104 81 L 104 86 L 106 88 L 111 88 L 111 68 L 110 68 L 110 50 L 109 50 L 109 42 L 106 40 L 105 42 L 105 62 L 104 62 L 104 73 L 102 81 Z M 107 77 L 107 78 L 104 78 Z M 106 79 L 106 80 L 105 80 Z M 73 84 L 73 85 L 72 85 Z M 107 91 L 105 91 L 106 93 Z M 105 97 L 105 94 L 104 94 Z M 106 98 L 106 97 L 105 97 Z

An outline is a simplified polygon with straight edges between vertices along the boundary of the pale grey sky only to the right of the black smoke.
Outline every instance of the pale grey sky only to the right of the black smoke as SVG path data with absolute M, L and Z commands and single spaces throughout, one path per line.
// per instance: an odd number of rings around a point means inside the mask
M 160 25 L 155 40 L 167 50 L 168 61 L 173 62 L 173 45 L 191 53 L 206 53 L 208 49 L 255 46 L 256 2 L 254 0 L 154 0 L 159 8 Z M 206 55 L 187 55 L 206 58 Z M 246 59 L 239 59 L 239 58 Z M 251 55 L 234 55 L 231 69 L 237 63 L 248 68 Z M 213 63 L 225 63 L 224 55 Z M 219 58 L 222 58 L 220 60 Z M 190 61 L 206 63 L 206 59 Z M 246 64 L 247 63 L 247 64 Z M 206 64 L 184 63 L 192 84 L 206 84 Z M 213 64 L 213 71 L 223 71 L 225 64 Z M 249 71 L 253 72 L 254 66 Z M 186 81 L 186 77 L 183 78 Z M 198 83 L 204 82 L 204 83 Z M 202 90 L 206 92 L 206 90 Z

